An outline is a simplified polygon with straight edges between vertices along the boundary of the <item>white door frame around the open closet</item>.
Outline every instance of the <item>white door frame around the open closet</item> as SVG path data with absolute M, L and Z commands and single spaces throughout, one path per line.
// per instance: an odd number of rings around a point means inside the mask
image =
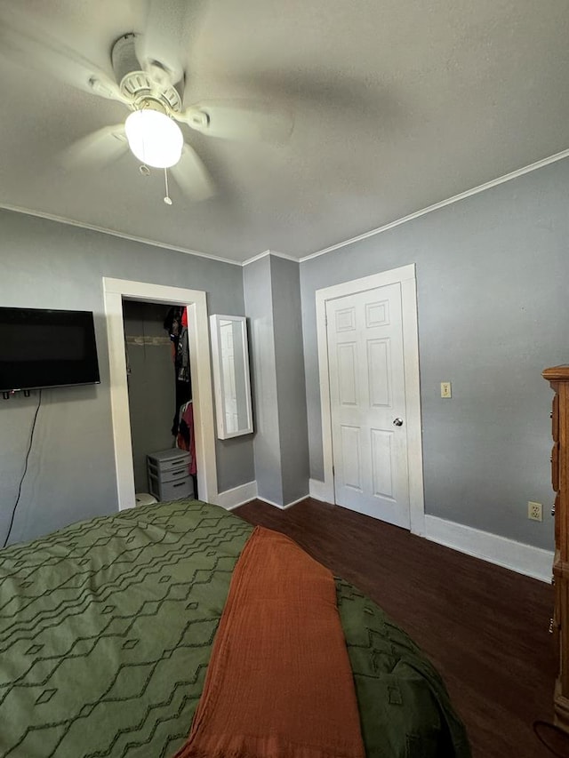
M 123 298 L 188 307 L 188 339 L 192 356 L 194 431 L 198 461 L 197 489 L 200 499 L 215 502 L 218 495 L 217 467 L 205 292 L 103 276 L 118 509 L 124 510 L 135 505 L 131 418 L 124 355 Z

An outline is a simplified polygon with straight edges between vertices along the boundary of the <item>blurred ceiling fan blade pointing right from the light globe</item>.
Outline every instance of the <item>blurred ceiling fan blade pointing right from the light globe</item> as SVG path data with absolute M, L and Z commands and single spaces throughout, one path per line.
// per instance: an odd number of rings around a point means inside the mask
M 294 125 L 289 111 L 248 100 L 204 100 L 173 116 L 197 132 L 247 142 L 284 142 Z

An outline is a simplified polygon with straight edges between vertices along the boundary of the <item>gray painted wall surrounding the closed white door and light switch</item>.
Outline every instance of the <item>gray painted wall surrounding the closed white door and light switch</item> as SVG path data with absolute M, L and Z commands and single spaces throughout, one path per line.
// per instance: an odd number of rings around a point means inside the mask
M 551 548 L 541 371 L 569 361 L 568 209 L 565 160 L 301 264 L 312 477 L 323 478 L 315 291 L 416 263 L 426 512 Z M 528 521 L 528 500 L 543 503 L 543 523 Z

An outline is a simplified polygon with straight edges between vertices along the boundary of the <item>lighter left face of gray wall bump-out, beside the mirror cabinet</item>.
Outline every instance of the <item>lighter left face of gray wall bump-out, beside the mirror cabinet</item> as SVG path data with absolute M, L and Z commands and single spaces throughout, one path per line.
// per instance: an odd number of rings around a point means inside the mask
M 252 367 L 253 449 L 260 498 L 283 504 L 270 256 L 243 268 Z

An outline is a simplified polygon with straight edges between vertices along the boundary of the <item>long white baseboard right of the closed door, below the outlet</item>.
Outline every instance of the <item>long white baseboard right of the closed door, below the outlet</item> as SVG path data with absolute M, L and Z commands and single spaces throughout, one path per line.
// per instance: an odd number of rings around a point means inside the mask
M 553 551 L 428 514 L 425 515 L 424 537 L 527 577 L 551 581 Z

